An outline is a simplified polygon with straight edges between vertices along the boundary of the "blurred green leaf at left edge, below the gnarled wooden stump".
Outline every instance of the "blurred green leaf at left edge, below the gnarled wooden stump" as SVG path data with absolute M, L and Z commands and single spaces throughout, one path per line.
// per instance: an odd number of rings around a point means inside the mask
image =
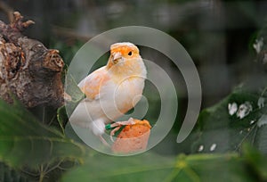
M 36 167 L 61 159 L 82 160 L 85 147 L 34 118 L 20 104 L 0 101 L 0 160 L 12 167 Z

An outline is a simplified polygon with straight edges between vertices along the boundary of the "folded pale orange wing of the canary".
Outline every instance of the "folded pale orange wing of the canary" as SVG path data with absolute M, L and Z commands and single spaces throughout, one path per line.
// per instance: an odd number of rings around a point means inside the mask
M 105 67 L 94 70 L 90 75 L 83 79 L 78 87 L 89 100 L 96 100 L 100 97 L 100 88 L 109 81 L 108 71 Z

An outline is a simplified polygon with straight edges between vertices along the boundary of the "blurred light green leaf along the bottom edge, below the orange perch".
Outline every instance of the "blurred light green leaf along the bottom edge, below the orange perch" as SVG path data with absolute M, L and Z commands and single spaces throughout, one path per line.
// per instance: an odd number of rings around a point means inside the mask
M 163 157 L 153 153 L 112 157 L 94 155 L 62 181 L 254 181 L 238 154 Z

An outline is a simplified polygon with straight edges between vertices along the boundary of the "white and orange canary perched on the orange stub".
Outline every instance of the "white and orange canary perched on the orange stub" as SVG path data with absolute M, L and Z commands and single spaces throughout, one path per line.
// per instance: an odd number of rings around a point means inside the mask
M 107 64 L 78 84 L 85 99 L 78 103 L 70 122 L 90 128 L 94 135 L 101 136 L 106 124 L 128 112 L 141 99 L 146 75 L 147 70 L 136 45 L 128 42 L 110 45 Z

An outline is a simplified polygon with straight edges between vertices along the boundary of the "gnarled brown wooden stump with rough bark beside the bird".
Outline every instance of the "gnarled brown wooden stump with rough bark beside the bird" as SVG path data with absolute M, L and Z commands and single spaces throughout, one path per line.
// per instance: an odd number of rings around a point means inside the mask
M 34 22 L 22 19 L 20 12 L 13 12 L 10 24 L 0 21 L 0 97 L 12 103 L 12 93 L 27 107 L 59 107 L 64 62 L 58 50 L 23 36 L 21 32 Z

